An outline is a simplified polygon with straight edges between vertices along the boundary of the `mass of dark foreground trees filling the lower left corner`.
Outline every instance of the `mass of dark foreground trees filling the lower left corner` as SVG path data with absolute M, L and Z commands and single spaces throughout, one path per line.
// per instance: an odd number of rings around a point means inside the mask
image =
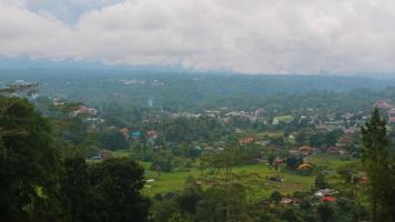
M 0 98 L 1 221 L 146 221 L 144 170 L 130 159 L 63 159 L 50 122 L 27 100 Z

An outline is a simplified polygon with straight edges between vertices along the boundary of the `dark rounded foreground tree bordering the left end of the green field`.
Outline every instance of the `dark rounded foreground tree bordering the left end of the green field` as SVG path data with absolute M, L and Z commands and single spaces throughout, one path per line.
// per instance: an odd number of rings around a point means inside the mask
M 108 159 L 90 169 L 92 221 L 146 221 L 150 201 L 141 194 L 144 169 L 130 159 Z

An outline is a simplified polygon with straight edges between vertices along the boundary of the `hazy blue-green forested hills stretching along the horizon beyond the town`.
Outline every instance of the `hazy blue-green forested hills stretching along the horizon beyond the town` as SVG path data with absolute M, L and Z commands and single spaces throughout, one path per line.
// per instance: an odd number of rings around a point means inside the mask
M 371 91 L 395 85 L 395 79 L 323 75 L 243 75 L 161 73 L 77 69 L 0 70 L 2 84 L 14 81 L 39 83 L 39 93 L 101 107 L 117 101 L 124 107 L 210 109 L 262 105 L 270 95 L 311 91 Z M 354 93 L 355 94 L 355 93 Z

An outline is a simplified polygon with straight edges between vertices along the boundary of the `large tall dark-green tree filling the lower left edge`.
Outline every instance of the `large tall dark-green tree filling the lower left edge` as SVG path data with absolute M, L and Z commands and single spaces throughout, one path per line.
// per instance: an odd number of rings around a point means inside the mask
M 48 120 L 24 99 L 0 97 L 0 221 L 55 221 L 60 155 Z

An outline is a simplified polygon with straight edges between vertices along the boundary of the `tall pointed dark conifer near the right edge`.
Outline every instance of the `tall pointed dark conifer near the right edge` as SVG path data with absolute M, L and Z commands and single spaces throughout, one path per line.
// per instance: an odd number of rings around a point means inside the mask
M 372 221 L 394 221 L 394 170 L 385 121 L 374 109 L 371 119 L 362 128 L 362 165 L 368 178 L 368 195 Z

